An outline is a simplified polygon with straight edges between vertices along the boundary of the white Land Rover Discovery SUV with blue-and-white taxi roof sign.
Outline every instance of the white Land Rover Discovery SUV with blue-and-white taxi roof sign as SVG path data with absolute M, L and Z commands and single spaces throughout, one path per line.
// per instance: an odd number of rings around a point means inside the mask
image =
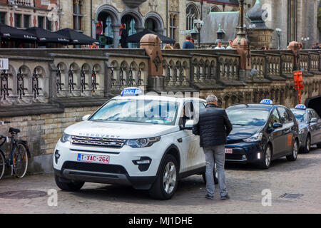
M 124 89 L 66 128 L 54 150 L 56 185 L 68 191 L 84 182 L 131 185 L 170 199 L 181 178 L 204 177 L 205 156 L 192 126 L 205 103 Z

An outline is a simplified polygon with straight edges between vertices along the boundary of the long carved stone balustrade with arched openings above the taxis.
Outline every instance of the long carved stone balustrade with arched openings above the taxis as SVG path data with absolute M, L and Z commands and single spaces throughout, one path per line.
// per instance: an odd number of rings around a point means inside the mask
M 8 55 L 10 53 L 10 55 Z M 1 71 L 1 106 L 91 103 L 118 95 L 123 88 L 148 85 L 149 56 L 136 49 L 11 49 L 9 70 Z M 199 91 L 273 83 L 292 78 L 295 56 L 291 51 L 252 51 L 252 69 L 240 78 L 236 51 L 163 51 L 163 90 Z M 305 76 L 320 73 L 320 52 L 300 51 L 299 68 Z M 317 86 L 316 86 L 317 87 Z

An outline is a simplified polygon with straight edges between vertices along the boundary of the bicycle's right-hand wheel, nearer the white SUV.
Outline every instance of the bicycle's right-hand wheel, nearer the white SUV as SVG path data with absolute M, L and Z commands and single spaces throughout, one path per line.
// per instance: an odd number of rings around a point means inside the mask
M 26 147 L 18 143 L 16 147 L 14 147 L 13 152 L 13 164 L 14 165 L 14 174 L 18 178 L 24 177 L 26 175 L 26 170 L 28 168 L 28 154 Z

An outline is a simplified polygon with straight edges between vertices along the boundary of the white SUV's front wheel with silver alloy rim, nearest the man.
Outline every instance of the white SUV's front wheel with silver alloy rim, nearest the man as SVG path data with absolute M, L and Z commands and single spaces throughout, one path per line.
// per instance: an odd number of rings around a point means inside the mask
M 156 181 L 149 190 L 153 199 L 171 199 L 178 185 L 178 162 L 173 155 L 165 155 Z M 166 190 L 167 189 L 167 190 Z

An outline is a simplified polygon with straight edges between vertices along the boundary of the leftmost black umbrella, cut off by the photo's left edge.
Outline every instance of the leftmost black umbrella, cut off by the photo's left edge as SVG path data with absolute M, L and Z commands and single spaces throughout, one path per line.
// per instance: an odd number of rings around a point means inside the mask
M 24 29 L 14 28 L 0 23 L 1 39 L 18 39 L 24 42 L 36 42 L 37 38 L 34 34 Z

